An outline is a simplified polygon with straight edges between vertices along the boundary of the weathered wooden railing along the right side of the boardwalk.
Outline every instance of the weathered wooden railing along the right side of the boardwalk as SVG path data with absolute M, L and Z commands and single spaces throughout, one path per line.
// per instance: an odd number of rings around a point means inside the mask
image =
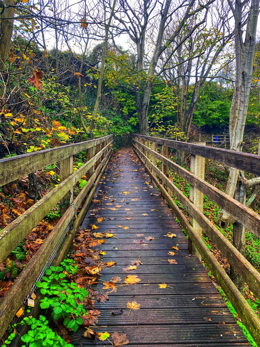
M 160 153 L 157 151 L 158 145 L 160 145 Z M 134 135 L 133 147 L 152 181 L 159 187 L 162 196 L 167 200 L 173 213 L 186 230 L 189 237 L 189 249 L 194 250 L 196 248 L 199 257 L 203 259 L 207 267 L 212 271 L 218 284 L 238 312 L 242 323 L 260 346 L 260 319 L 220 266 L 212 252 L 207 248 L 201 237 L 203 229 L 204 233 L 218 247 L 256 297 L 260 299 L 260 273 L 203 214 L 203 195 L 206 195 L 211 201 L 218 204 L 221 209 L 228 212 L 238 223 L 257 237 L 260 237 L 260 215 L 204 181 L 204 177 L 201 175 L 204 158 L 207 158 L 260 176 L 260 156 L 142 135 Z M 191 154 L 191 172 L 167 158 L 168 148 L 178 149 Z M 157 167 L 158 161 L 160 161 L 160 169 Z M 168 178 L 168 168 L 190 184 L 190 199 Z M 189 221 L 174 203 L 172 195 L 189 212 Z

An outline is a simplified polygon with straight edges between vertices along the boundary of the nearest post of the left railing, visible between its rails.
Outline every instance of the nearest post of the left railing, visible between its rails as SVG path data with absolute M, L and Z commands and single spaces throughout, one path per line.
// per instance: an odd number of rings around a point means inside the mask
M 73 173 L 73 156 L 60 161 L 60 183 Z M 73 187 L 60 200 L 60 217 L 67 210 L 69 204 L 73 201 Z

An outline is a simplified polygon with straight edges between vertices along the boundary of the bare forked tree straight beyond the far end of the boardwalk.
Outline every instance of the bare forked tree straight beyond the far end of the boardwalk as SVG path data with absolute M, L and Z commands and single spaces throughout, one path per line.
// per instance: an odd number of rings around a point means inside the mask
M 209 6 L 213 2 L 214 0 L 205 3 L 196 0 L 179 3 L 173 3 L 172 0 L 161 3 L 148 0 L 137 0 L 134 3 L 120 1 L 115 19 L 120 23 L 120 30 L 127 33 L 133 43 L 137 55 L 137 73 L 146 73 L 145 80 L 140 79 L 136 87 L 136 107 L 141 134 L 149 134 L 148 107 L 152 86 L 157 78 L 156 69 L 160 56 L 168 47 L 171 48 L 172 54 L 177 52 L 180 45 L 206 21 Z M 175 28 L 167 40 L 164 40 L 165 29 L 172 21 L 176 23 Z M 178 41 L 180 37 L 181 40 Z

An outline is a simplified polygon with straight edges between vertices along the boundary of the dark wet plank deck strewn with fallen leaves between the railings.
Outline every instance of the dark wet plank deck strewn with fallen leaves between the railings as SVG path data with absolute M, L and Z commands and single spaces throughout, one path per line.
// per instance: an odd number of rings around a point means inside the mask
M 106 252 L 102 261 L 116 262 L 102 270 L 102 282 L 120 276 L 124 283 L 128 275 L 141 280 L 118 286 L 104 304 L 96 302 L 95 308 L 101 311 L 100 332 L 109 332 L 110 341 L 114 332 L 126 334 L 129 346 L 134 347 L 251 346 L 207 271 L 190 256 L 180 226 L 131 149 L 121 149 L 110 162 L 96 195 L 82 228 L 90 229 L 97 217 L 103 217 L 97 231 L 113 230 L 119 239 L 109 238 L 100 245 Z M 145 239 L 149 237 L 154 239 Z M 169 255 L 169 251 L 176 254 Z M 168 259 L 177 264 L 169 264 Z M 137 260 L 142 264 L 125 272 Z M 99 282 L 93 287 L 104 292 Z M 167 286 L 160 288 L 159 284 Z M 140 309 L 129 314 L 127 302 L 137 302 Z M 115 309 L 122 309 L 123 314 L 111 314 Z M 80 339 L 81 334 L 82 330 L 73 336 L 74 346 L 93 346 L 91 340 Z M 108 341 L 96 342 L 112 346 Z

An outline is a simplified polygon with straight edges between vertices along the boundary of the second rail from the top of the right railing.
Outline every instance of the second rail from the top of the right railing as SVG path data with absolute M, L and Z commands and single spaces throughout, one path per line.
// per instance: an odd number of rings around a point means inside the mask
M 140 148 L 142 148 L 142 143 L 139 143 Z M 202 146 L 203 147 L 203 146 Z M 181 176 L 186 182 L 192 184 L 203 194 L 210 197 L 214 203 L 218 204 L 223 210 L 227 211 L 231 216 L 233 216 L 238 222 L 244 225 L 248 230 L 253 232 L 257 237 L 260 238 L 260 215 L 251 209 L 247 208 L 240 202 L 229 197 L 227 194 L 221 192 L 216 187 L 213 187 L 211 184 L 206 181 L 201 180 L 196 177 L 194 174 L 180 167 L 176 163 L 173 163 L 169 159 L 164 158 L 159 153 L 152 151 L 150 148 L 147 148 L 149 153 L 158 158 L 161 162 L 164 162 L 168 165 L 169 168 L 174 170 L 179 176 Z

